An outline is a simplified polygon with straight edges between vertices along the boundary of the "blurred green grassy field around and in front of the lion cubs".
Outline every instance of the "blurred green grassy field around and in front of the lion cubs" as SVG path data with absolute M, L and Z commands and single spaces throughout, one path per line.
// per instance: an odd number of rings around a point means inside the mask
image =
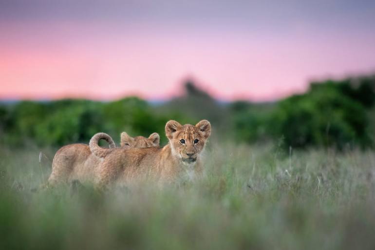
M 210 144 L 201 179 L 106 193 L 32 192 L 55 149 L 1 147 L 0 249 L 375 249 L 375 152 Z

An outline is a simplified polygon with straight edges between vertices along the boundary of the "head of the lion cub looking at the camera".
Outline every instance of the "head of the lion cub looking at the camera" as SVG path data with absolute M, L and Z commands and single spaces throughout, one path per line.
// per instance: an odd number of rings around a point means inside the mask
M 211 124 L 207 120 L 201 120 L 195 126 L 181 125 L 173 120 L 166 124 L 166 135 L 172 154 L 186 164 L 194 163 L 197 160 L 210 134 Z

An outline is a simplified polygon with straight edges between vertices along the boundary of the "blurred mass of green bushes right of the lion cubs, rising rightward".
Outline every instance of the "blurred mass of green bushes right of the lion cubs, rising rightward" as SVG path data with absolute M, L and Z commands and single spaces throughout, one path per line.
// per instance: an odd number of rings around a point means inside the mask
M 302 95 L 279 102 L 234 102 L 237 139 L 282 140 L 286 147 L 373 145 L 370 109 L 375 104 L 375 77 L 314 82 Z

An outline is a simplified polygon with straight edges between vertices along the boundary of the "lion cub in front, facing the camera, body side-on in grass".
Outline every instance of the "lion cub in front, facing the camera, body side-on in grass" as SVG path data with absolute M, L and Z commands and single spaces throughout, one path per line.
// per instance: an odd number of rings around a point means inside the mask
M 105 188 L 114 182 L 129 183 L 139 178 L 171 182 L 180 173 L 202 171 L 201 153 L 211 134 L 207 120 L 195 126 L 169 121 L 165 127 L 169 143 L 163 148 L 117 148 L 93 152 L 103 161 L 98 167 L 97 183 Z

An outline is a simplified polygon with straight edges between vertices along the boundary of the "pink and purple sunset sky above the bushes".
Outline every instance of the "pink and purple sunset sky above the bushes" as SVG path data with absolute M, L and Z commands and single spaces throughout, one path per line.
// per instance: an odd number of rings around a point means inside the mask
M 0 99 L 160 100 L 192 78 L 263 101 L 371 73 L 375 1 L 0 1 Z

